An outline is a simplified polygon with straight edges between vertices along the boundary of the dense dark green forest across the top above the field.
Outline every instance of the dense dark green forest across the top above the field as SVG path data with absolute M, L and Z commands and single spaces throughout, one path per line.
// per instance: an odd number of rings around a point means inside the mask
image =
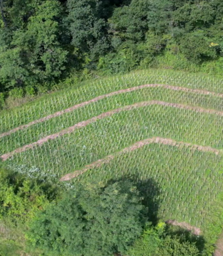
M 89 72 L 223 70 L 222 0 L 0 0 L 0 12 L 0 92 Z

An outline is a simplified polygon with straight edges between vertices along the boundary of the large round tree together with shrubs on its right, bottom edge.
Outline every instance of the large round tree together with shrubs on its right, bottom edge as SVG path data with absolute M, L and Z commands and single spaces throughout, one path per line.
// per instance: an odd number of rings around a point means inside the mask
M 57 204 L 37 214 L 28 241 L 34 248 L 60 256 L 200 255 L 185 234 L 171 236 L 165 223 L 155 227 L 148 223 L 142 200 L 129 181 L 77 184 Z

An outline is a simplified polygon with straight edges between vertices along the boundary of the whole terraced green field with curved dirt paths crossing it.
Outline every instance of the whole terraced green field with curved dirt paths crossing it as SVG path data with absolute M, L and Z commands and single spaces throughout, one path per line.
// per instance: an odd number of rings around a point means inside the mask
M 2 161 L 70 185 L 133 179 L 153 214 L 199 230 L 204 255 L 223 227 L 223 80 L 140 71 L 0 112 Z

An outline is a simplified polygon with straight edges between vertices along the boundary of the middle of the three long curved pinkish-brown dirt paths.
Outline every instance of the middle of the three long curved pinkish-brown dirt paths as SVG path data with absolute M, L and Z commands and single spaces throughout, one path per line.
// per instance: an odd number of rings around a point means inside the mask
M 186 110 L 192 110 L 192 111 L 196 111 L 196 112 L 202 112 L 202 113 L 208 113 L 208 114 L 215 114 L 215 115 L 219 115 L 219 116 L 223 116 L 223 111 L 216 111 L 216 110 L 210 110 L 210 109 L 203 109 L 202 107 L 196 107 L 196 106 L 187 106 L 187 105 L 183 105 L 183 104 L 176 104 L 176 103 L 169 103 L 169 102 L 165 102 L 165 101 L 142 101 L 142 102 L 138 102 L 132 105 L 128 105 L 125 107 L 120 107 L 119 109 L 115 109 L 115 110 L 111 110 L 105 113 L 102 113 L 98 116 L 92 117 L 91 119 L 88 119 L 86 121 L 82 121 L 82 122 L 78 122 L 77 124 L 68 127 L 60 132 L 57 132 L 56 134 L 51 134 L 48 135 L 36 142 L 33 142 L 31 144 L 28 145 L 24 145 L 22 147 L 19 147 L 16 150 L 13 150 L 12 152 L 8 152 L 4 155 L 1 156 L 1 159 L 3 161 L 6 161 L 9 157 L 13 156 L 16 153 L 21 153 L 23 151 L 26 151 L 28 149 L 32 149 L 34 146 L 37 145 L 42 145 L 44 142 L 47 142 L 48 140 L 53 140 L 56 139 L 59 136 L 63 136 L 65 134 L 69 134 L 73 131 L 75 131 L 76 129 L 80 129 L 81 127 L 85 127 L 89 124 L 91 124 L 92 122 L 96 122 L 97 120 L 100 119 L 104 119 L 108 116 L 112 116 L 118 112 L 121 111 L 126 111 L 126 110 L 131 110 L 131 109 L 135 109 L 137 107 L 143 107 L 143 106 L 150 106 L 150 105 L 162 105 L 162 106 L 167 106 L 167 107 L 177 107 L 178 109 L 186 109 Z

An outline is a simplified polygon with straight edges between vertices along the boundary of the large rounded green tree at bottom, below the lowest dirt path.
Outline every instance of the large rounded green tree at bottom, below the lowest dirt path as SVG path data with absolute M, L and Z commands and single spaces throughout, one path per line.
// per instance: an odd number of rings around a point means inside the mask
M 136 187 L 128 181 L 101 187 L 75 186 L 57 204 L 37 215 L 28 240 L 54 255 L 126 252 L 146 221 Z

